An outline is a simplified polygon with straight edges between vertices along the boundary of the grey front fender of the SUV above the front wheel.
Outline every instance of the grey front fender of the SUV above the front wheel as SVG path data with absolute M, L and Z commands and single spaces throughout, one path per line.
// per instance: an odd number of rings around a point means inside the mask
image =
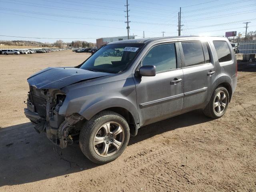
M 135 123 L 138 123 L 134 81 L 132 78 L 117 78 L 118 75 L 112 78 L 103 77 L 64 88 L 66 98 L 60 107 L 59 114 L 78 113 L 89 120 L 102 110 L 120 107 L 128 110 Z

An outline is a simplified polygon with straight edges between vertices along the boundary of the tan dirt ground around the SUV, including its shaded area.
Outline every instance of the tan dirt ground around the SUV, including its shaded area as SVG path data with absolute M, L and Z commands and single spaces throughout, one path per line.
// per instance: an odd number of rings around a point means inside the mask
M 23 114 L 26 78 L 48 66 L 76 66 L 71 50 L 0 55 L 0 191 L 256 191 L 256 66 L 240 63 L 238 86 L 217 120 L 200 110 L 141 128 L 113 162 L 90 162 L 37 134 Z M 254 63 L 255 64 L 255 63 Z

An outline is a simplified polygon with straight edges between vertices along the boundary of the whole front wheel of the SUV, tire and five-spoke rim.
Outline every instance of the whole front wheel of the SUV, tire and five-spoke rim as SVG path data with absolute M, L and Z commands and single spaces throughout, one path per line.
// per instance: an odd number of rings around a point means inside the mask
M 126 120 L 118 113 L 103 111 L 84 124 L 79 145 L 88 159 L 103 164 L 118 158 L 129 138 L 130 129 Z

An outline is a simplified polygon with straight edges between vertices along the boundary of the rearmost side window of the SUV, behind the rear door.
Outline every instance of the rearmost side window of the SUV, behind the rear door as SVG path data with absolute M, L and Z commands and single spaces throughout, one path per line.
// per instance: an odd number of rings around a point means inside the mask
M 213 44 L 216 49 L 219 62 L 232 60 L 231 53 L 226 41 L 213 41 Z

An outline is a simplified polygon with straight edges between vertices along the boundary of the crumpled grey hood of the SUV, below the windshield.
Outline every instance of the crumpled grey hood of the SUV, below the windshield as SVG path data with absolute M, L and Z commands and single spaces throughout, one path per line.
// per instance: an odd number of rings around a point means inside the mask
M 110 73 L 93 72 L 74 67 L 48 67 L 28 78 L 28 83 L 38 89 L 61 89 L 65 86 L 110 75 Z

